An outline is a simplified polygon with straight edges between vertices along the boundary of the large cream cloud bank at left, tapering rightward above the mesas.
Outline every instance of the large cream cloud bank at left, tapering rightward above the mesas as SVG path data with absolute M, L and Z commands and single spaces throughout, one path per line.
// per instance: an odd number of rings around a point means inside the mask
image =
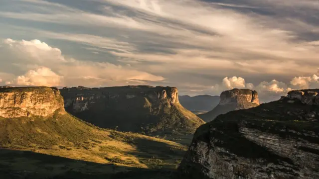
M 9 81 L 26 86 L 101 86 L 126 85 L 131 81 L 162 81 L 163 77 L 132 69 L 129 66 L 65 58 L 58 48 L 39 40 L 3 41 L 7 66 L 27 71 Z M 16 60 L 16 59 L 19 60 Z M 1 69 L 0 69 L 1 70 Z M 4 70 L 4 69 L 2 69 Z

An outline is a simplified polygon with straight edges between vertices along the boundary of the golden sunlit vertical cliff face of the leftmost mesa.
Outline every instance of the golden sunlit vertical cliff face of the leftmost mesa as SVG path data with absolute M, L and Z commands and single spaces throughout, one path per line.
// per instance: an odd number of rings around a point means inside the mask
M 47 87 L 0 88 L 0 116 L 4 118 L 49 116 L 64 110 L 60 91 Z

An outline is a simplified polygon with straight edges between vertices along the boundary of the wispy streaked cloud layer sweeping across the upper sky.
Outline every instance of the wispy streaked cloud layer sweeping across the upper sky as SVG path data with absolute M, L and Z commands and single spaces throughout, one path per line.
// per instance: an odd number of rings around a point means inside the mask
M 34 38 L 76 43 L 73 51 L 88 49 L 95 58 L 108 54 L 113 59 L 105 63 L 112 61 L 115 69 L 154 74 L 185 91 L 205 91 L 204 87 L 232 76 L 252 79 L 256 88 L 263 78 L 290 84 L 288 79 L 310 77 L 319 67 L 317 0 L 81 3 L 12 0 L 0 7 L 5 19 L 0 23 L 10 22 Z M 77 53 L 72 56 L 81 58 Z M 86 78 L 99 79 L 89 73 Z M 284 88 L 271 80 L 267 83 L 269 89 Z

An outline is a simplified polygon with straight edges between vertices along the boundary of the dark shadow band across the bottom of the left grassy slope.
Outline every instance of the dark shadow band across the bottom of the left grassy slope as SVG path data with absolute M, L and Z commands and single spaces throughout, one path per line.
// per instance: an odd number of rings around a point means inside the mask
M 30 151 L 0 149 L 1 179 L 172 179 L 174 170 L 98 164 Z

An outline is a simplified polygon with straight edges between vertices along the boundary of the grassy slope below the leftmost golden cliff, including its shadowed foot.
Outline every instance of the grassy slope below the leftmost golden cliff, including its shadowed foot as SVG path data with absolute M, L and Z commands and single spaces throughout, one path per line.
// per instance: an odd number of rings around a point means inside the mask
M 21 171 L 28 171 L 32 178 L 169 171 L 186 151 L 178 143 L 100 129 L 59 112 L 49 118 L 0 118 L 0 148 L 0 174 L 22 176 Z M 42 154 L 49 156 L 38 157 Z

